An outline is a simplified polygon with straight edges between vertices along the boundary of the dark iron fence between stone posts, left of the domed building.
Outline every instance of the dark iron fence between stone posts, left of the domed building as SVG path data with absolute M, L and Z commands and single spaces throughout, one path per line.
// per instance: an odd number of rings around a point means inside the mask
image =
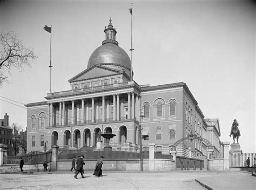
M 44 161 L 49 162 L 51 161 L 51 153 L 51 151 L 40 153 L 32 152 L 28 155 L 23 155 L 22 159 L 24 160 L 24 164 L 38 164 L 43 163 Z M 7 157 L 7 164 L 19 164 L 21 160 L 20 158 L 20 155 Z

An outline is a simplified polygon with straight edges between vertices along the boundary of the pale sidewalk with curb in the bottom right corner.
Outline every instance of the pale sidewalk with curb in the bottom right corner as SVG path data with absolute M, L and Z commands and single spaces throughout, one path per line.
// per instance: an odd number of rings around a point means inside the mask
M 220 173 L 211 177 L 196 178 L 207 189 L 255 189 L 256 178 L 251 173 Z

